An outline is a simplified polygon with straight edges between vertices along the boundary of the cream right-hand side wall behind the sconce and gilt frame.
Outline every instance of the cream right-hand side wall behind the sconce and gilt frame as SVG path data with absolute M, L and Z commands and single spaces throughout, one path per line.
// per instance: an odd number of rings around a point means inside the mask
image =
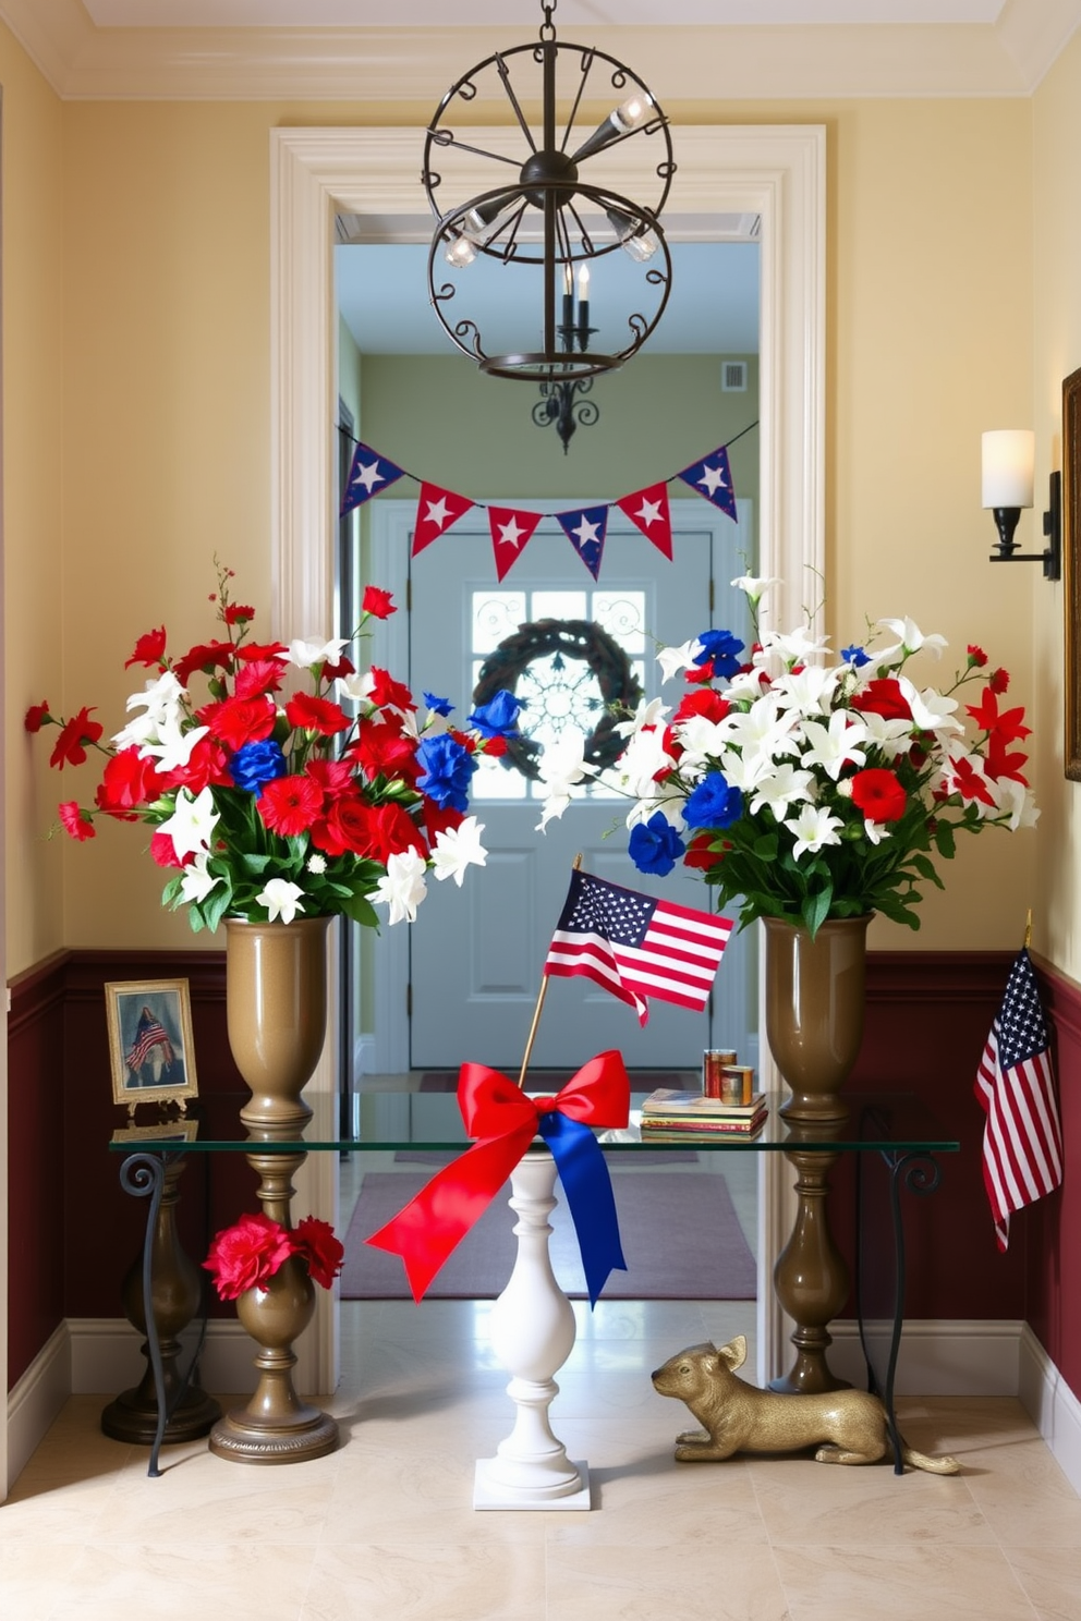
M 1081 36 L 1034 99 L 1036 488 L 1062 467 L 1062 379 L 1081 366 Z M 1034 947 L 1081 979 L 1081 785 L 1063 776 L 1063 587 L 1040 584 L 1032 611 L 1037 759 L 1044 820 Z

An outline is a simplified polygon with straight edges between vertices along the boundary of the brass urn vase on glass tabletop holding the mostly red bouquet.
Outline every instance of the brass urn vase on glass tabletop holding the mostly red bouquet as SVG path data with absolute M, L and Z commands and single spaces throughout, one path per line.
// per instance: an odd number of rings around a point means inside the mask
M 326 1039 L 329 924 L 225 919 L 229 1046 L 251 1093 L 240 1118 L 253 1130 L 311 1118 L 301 1094 Z

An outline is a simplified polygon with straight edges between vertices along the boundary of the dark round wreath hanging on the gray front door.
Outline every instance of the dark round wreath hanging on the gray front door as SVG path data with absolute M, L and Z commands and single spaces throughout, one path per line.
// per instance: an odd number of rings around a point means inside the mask
M 627 739 L 621 738 L 616 725 L 637 710 L 642 682 L 619 642 L 592 619 L 536 619 L 520 624 L 481 665 L 473 705 L 488 704 L 501 691 L 515 692 L 530 666 L 546 658 L 582 660 L 596 678 L 603 713 L 585 739 L 583 757 L 596 770 L 614 765 L 627 747 Z M 556 668 L 561 668 L 559 663 Z M 520 733 L 507 739 L 504 760 L 536 781 L 543 752 L 541 742 Z

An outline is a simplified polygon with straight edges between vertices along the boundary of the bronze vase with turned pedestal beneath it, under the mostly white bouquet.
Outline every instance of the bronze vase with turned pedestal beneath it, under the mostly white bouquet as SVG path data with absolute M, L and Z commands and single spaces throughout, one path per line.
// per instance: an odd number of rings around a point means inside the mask
M 844 1386 L 827 1362 L 833 1344 L 828 1323 L 849 1294 L 849 1276 L 828 1221 L 830 1170 L 836 1154 L 801 1143 L 836 1135 L 848 1106 L 841 1086 L 859 1057 L 864 1034 L 864 971 L 870 917 L 823 922 L 815 939 L 807 929 L 763 917 L 767 1041 L 791 1089 L 781 1106 L 796 1167 L 799 1201 L 793 1234 L 773 1268 L 776 1298 L 793 1318 L 793 1368 L 771 1389 L 820 1394 Z

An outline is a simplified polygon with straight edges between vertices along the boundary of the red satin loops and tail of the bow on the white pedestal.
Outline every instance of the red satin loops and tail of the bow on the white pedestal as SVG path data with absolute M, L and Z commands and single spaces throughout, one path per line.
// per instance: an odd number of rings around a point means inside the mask
M 459 1107 L 465 1130 L 476 1138 L 473 1146 L 438 1170 L 386 1227 L 365 1238 L 376 1250 L 402 1256 L 417 1302 L 522 1159 L 541 1115 L 556 1110 L 582 1125 L 624 1127 L 630 1083 L 616 1050 L 583 1063 L 554 1097 L 527 1097 L 498 1070 L 464 1063 Z

